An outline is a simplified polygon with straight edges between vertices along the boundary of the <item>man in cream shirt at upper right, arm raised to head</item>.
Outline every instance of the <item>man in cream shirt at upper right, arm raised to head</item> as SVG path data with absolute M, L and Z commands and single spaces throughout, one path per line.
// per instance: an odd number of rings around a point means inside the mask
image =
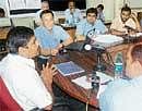
M 113 21 L 110 32 L 114 35 L 126 35 L 130 33 L 127 26 L 133 28 L 135 32 L 141 32 L 137 16 L 131 13 L 131 9 L 126 5 L 121 9 L 120 16 Z

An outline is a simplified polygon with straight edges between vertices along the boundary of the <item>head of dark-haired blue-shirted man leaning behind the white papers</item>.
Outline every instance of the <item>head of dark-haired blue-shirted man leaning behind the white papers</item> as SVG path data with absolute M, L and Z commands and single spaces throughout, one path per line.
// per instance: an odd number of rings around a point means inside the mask
M 86 20 L 90 24 L 94 24 L 97 17 L 97 9 L 90 8 L 86 11 Z

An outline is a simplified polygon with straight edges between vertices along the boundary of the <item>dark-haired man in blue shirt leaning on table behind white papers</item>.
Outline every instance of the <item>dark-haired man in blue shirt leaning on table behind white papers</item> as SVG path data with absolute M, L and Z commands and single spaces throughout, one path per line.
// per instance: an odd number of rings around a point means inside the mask
M 95 34 L 104 34 L 107 32 L 104 23 L 97 20 L 97 9 L 94 8 L 87 9 L 86 18 L 76 25 L 76 40 L 85 40 L 90 30 L 94 30 Z

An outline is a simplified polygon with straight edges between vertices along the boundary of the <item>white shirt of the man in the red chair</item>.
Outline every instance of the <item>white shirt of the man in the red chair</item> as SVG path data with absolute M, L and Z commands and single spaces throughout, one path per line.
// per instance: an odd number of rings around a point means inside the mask
M 45 108 L 52 103 L 32 59 L 17 54 L 8 54 L 0 62 L 1 77 L 11 96 L 24 111 Z

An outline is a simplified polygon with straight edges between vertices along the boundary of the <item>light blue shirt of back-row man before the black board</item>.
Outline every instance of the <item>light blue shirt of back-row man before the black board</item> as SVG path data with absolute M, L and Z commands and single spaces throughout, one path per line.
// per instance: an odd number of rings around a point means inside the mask
M 79 23 L 82 20 L 81 11 L 79 9 L 75 9 L 74 12 L 71 14 L 70 10 L 67 9 L 64 11 L 66 15 L 66 22 L 71 24 L 71 23 Z

